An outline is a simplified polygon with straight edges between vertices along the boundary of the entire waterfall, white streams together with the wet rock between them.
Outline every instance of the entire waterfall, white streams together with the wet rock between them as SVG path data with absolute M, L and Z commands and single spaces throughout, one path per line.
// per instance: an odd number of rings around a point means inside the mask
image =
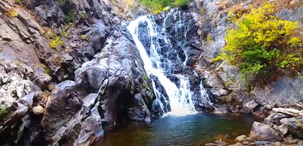
M 180 21 L 176 22 L 174 24 L 175 28 L 171 29 L 175 29 L 175 32 L 180 32 L 182 30 L 179 29 L 179 27 L 182 26 L 181 15 L 180 11 L 176 13 L 177 15 L 175 16 L 180 17 Z M 188 56 L 186 55 L 186 50 L 183 49 L 186 47 L 180 45 L 181 49 L 177 52 L 176 49 L 173 48 L 171 40 L 165 35 L 165 25 L 168 17 L 169 15 L 166 15 L 164 18 L 163 28 L 155 23 L 153 16 L 145 15 L 131 21 L 127 29 L 137 45 L 148 78 L 152 80 L 152 86 L 157 97 L 153 106 L 158 105 L 162 112 L 168 115 L 182 116 L 195 114 L 197 111 L 195 110 L 192 100 L 194 93 L 190 90 L 190 78 L 175 71 L 176 68 L 180 68 L 180 66 L 182 68 L 182 66 L 186 65 Z M 145 29 L 143 29 L 143 27 L 145 27 Z M 181 42 L 178 40 L 179 37 L 182 38 L 182 36 L 178 36 L 177 33 L 177 43 Z M 140 38 L 142 38 L 142 40 L 140 40 Z M 169 48 L 172 52 L 168 52 L 165 48 Z M 171 80 L 177 80 L 178 84 Z M 158 85 L 158 82 L 161 85 Z M 199 93 L 200 96 L 208 98 L 205 89 L 201 87 L 202 85 L 200 83 L 198 90 L 204 90 Z M 201 94 L 206 94 L 207 96 Z M 165 96 L 167 97 L 165 98 Z

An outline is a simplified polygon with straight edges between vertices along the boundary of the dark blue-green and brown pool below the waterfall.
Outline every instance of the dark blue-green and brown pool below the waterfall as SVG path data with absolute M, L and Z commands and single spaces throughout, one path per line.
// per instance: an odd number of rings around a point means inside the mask
M 248 135 L 254 121 L 249 116 L 200 113 L 165 116 L 151 123 L 132 122 L 105 134 L 95 146 L 198 146 L 214 142 L 221 135 L 234 139 Z

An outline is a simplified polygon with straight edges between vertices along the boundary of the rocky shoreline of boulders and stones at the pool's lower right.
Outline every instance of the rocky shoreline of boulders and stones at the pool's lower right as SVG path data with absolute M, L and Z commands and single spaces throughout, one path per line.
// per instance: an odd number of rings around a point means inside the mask
M 273 108 L 270 113 L 263 123 L 254 122 L 249 137 L 240 135 L 234 140 L 230 140 L 228 136 L 225 136 L 214 143 L 205 144 L 205 146 L 303 145 L 303 110 Z

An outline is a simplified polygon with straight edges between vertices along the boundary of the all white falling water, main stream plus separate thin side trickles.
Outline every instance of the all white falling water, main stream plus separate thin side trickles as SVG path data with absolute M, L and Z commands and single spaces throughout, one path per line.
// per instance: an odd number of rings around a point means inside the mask
M 170 13 L 170 12 L 169 12 Z M 180 12 L 178 13 L 179 17 L 181 17 Z M 167 96 L 169 98 L 170 108 L 171 112 L 168 112 L 166 114 L 168 115 L 175 115 L 175 116 L 183 116 L 188 114 L 195 114 L 197 111 L 195 110 L 193 101 L 192 101 L 192 95 L 193 92 L 190 91 L 190 82 L 189 78 L 185 77 L 184 75 L 176 75 L 172 74 L 171 72 L 171 61 L 166 60 L 168 62 L 168 67 L 161 65 L 161 59 L 163 61 L 163 56 L 161 54 L 158 54 L 158 52 L 161 52 L 160 43 L 158 42 L 158 33 L 164 34 L 165 32 L 165 21 L 167 19 L 168 15 L 164 19 L 164 27 L 161 30 L 158 30 L 160 32 L 157 32 L 157 24 L 155 24 L 155 21 L 152 18 L 149 18 L 148 16 L 141 16 L 129 23 L 127 26 L 127 29 L 131 33 L 133 40 L 135 44 L 137 45 L 137 48 L 140 52 L 142 61 L 144 63 L 144 69 L 150 78 L 151 75 L 156 76 L 158 78 L 158 81 L 160 84 L 164 87 Z M 145 22 L 147 24 L 147 35 L 150 38 L 150 48 L 144 48 L 142 45 L 142 42 L 140 41 L 140 32 L 139 32 L 139 25 L 140 23 Z M 182 24 L 181 21 L 176 24 L 176 26 L 180 26 Z M 175 27 L 175 31 L 178 33 L 178 28 Z M 178 34 L 177 34 L 178 35 Z M 163 37 L 163 35 L 162 35 Z M 163 39 L 163 38 L 162 38 Z M 178 38 L 177 38 L 178 39 Z M 165 45 L 171 46 L 170 40 L 164 35 L 164 41 Z M 178 41 L 178 40 L 177 40 Z M 146 51 L 146 49 L 149 50 L 149 56 Z M 182 48 L 183 50 L 183 48 Z M 185 52 L 185 50 L 183 50 Z M 178 61 L 181 62 L 181 64 L 185 65 L 187 61 L 187 55 L 185 54 L 185 61 L 181 61 L 177 54 Z M 174 75 L 178 78 L 180 81 L 179 88 L 175 83 L 173 83 L 166 75 L 166 73 L 170 73 L 171 75 Z M 152 79 L 152 78 L 151 78 Z M 157 90 L 155 86 L 155 82 L 152 79 L 152 86 L 155 91 L 155 95 L 157 96 L 157 99 L 155 102 L 160 105 L 161 109 L 163 110 L 164 106 L 161 103 L 161 92 Z M 200 85 L 201 90 L 201 96 L 205 98 L 206 91 L 203 88 L 202 85 Z M 203 90 L 203 91 L 202 91 Z M 207 94 L 206 94 L 207 95 Z M 163 96 L 163 95 L 162 95 Z M 208 97 L 208 96 L 206 96 Z M 209 99 L 206 99 L 209 101 Z M 163 101 L 162 101 L 163 102 Z M 165 101 L 168 102 L 168 101 Z M 211 105 L 211 103 L 210 103 Z

